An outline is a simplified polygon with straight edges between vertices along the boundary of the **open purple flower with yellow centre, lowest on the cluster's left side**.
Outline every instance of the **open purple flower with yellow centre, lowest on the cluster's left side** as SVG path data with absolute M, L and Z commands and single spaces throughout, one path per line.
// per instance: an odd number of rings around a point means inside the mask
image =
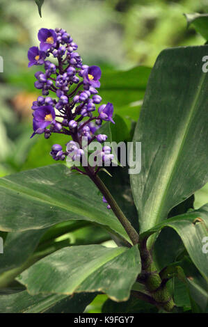
M 35 134 L 42 134 L 45 128 L 51 123 L 55 123 L 56 113 L 52 106 L 40 106 L 33 113 L 33 129 Z

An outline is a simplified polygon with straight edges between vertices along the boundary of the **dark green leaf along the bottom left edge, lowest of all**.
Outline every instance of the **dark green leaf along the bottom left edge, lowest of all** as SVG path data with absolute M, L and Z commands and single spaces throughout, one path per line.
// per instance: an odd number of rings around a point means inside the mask
M 0 294 L 1 313 L 81 313 L 93 301 L 96 294 L 36 295 L 28 292 Z

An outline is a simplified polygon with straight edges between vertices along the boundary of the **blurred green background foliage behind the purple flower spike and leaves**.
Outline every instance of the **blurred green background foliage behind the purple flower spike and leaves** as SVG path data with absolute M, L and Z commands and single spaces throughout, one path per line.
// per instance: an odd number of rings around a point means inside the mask
M 166 47 L 204 44 L 201 35 L 186 28 L 183 13 L 207 12 L 208 0 L 45 0 L 40 18 L 33 0 L 1 0 L 0 56 L 4 71 L 0 73 L 0 177 L 54 163 L 49 151 L 54 141 L 58 143 L 59 136 L 50 140 L 43 135 L 30 139 L 31 104 L 40 93 L 33 87 L 37 69 L 27 68 L 27 51 L 38 45 L 40 28 L 66 29 L 79 45 L 83 63 L 102 67 L 105 86 L 111 83 L 112 71 L 118 84 L 125 85 L 127 75 L 116 75 L 114 70 L 127 71 L 138 65 L 152 67 Z M 141 74 L 138 72 L 138 81 L 130 79 L 128 88 L 135 89 L 141 79 L 139 86 L 145 90 L 149 73 L 147 68 Z M 128 98 L 129 91 L 124 92 Z M 113 94 L 111 90 L 105 93 L 106 98 Z M 138 92 L 138 103 L 121 104 L 121 95 L 117 97 L 116 113 L 128 118 L 127 111 L 134 107 L 134 114 L 130 114 L 131 124 L 134 123 L 143 92 Z M 125 123 L 128 125 L 128 120 Z M 129 139 L 125 132 L 124 135 Z M 197 192 L 195 207 L 207 202 L 207 198 L 205 186 Z M 88 310 L 96 312 L 99 301 L 94 304 Z

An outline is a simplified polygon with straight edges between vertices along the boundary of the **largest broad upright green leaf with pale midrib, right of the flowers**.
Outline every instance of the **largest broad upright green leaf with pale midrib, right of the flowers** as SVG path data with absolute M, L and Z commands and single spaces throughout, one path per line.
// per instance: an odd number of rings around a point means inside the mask
M 202 72 L 207 51 L 166 49 L 150 75 L 134 134 L 134 142 L 142 143 L 142 168 L 131 175 L 141 232 L 208 180 L 208 74 Z

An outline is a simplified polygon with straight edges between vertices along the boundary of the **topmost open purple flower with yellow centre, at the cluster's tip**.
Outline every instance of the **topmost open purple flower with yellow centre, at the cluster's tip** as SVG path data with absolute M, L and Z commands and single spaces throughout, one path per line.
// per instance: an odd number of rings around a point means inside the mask
M 40 50 L 47 51 L 56 46 L 57 35 L 53 29 L 40 29 L 38 32 Z

